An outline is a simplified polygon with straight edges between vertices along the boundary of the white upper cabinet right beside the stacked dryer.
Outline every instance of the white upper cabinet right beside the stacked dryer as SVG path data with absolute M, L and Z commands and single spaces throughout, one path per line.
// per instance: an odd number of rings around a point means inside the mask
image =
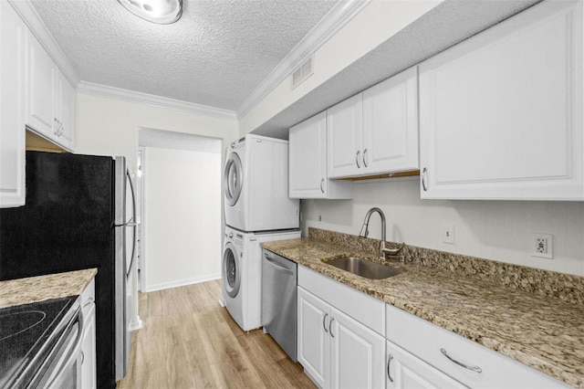
M 290 129 L 288 155 L 291 198 L 352 198 L 352 183 L 328 180 L 325 112 Z

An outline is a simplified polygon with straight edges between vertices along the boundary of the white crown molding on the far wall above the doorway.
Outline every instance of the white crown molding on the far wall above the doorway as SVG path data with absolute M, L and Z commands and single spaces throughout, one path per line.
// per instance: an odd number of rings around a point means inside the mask
M 193 102 L 174 100 L 128 89 L 108 87 L 105 85 L 94 84 L 92 82 L 81 81 L 78 83 L 76 90 L 79 93 L 87 93 L 91 95 L 104 96 L 111 99 L 149 104 L 162 108 L 170 108 L 172 110 L 185 110 L 218 119 L 228 119 L 232 121 L 237 120 L 234 110 L 223 110 L 220 108 L 209 107 L 207 105 L 195 104 Z

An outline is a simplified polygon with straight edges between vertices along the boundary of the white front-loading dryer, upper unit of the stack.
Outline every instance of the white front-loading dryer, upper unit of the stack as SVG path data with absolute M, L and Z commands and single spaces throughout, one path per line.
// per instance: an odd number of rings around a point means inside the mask
M 288 142 L 246 135 L 227 147 L 225 225 L 242 231 L 299 226 L 299 200 L 288 197 Z

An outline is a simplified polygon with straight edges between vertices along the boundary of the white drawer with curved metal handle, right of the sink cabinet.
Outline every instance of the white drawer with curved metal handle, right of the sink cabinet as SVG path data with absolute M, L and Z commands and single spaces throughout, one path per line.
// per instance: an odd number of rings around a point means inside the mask
M 473 388 L 516 389 L 568 387 L 523 363 L 518 363 L 389 304 L 386 306 L 386 313 L 386 338 L 389 341 L 465 385 Z M 452 362 L 443 352 L 455 361 L 469 367 L 480 368 L 481 373 Z

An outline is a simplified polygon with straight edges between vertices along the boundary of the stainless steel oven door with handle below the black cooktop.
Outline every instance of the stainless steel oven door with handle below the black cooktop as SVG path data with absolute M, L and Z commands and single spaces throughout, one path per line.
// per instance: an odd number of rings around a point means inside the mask
M 55 346 L 49 358 L 47 369 L 36 388 L 78 389 L 81 387 L 81 346 L 83 340 L 83 314 L 79 310 L 75 320 Z

